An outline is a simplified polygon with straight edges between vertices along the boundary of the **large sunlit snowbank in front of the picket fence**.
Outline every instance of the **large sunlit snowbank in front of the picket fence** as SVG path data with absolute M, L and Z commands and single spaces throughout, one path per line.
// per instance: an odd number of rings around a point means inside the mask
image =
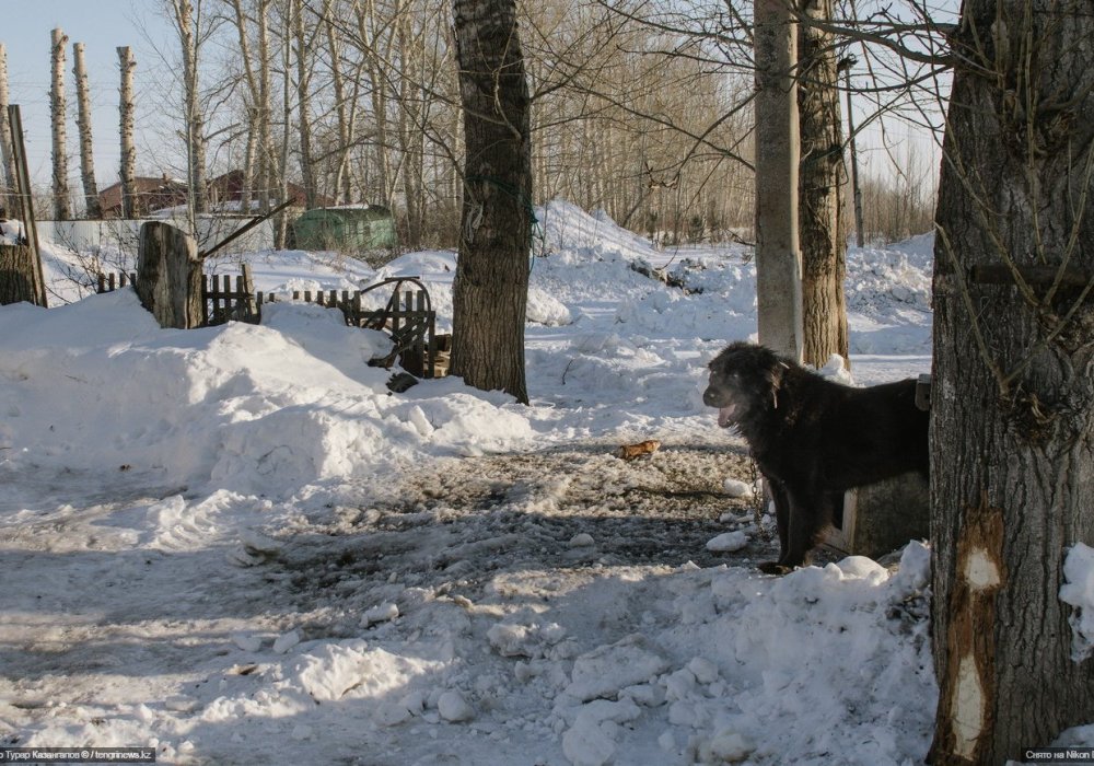
M 511 397 L 446 383 L 393 397 L 391 372 L 368 365 L 391 341 L 336 310 L 275 303 L 263 321 L 164 330 L 131 290 L 5 309 L 0 449 L 15 468 L 277 496 L 532 436 Z

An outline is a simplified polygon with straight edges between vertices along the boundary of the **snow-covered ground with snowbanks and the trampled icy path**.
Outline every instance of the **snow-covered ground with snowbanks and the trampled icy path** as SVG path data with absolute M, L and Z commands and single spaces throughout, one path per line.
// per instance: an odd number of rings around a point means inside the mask
M 160 329 L 129 290 L 0 307 L 0 745 L 181 764 L 919 763 L 929 554 L 759 574 L 777 545 L 707 361 L 755 334 L 737 247 L 540 211 L 532 406 L 405 394 L 385 336 L 280 303 Z M 929 237 L 852 249 L 859 384 L 929 371 Z M 245 256 L 260 290 L 420 275 Z M 667 266 L 685 293 L 630 268 Z M 238 257 L 214 265 L 232 271 Z M 57 301 L 55 301 L 57 303 Z M 657 439 L 624 462 L 620 445 Z M 732 491 L 730 491 L 732 490 Z

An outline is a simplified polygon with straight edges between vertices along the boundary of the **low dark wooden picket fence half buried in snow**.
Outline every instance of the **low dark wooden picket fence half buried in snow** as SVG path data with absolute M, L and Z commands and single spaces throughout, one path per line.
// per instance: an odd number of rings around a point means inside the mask
M 136 283 L 133 274 L 98 275 L 98 292 L 110 292 Z M 363 297 L 377 291 L 391 291 L 384 307 L 366 309 Z M 391 336 L 391 353 L 369 361 L 374 367 L 391 367 L 399 359 L 403 368 L 420 378 L 439 378 L 447 373 L 447 353 L 444 339 L 438 338 L 429 291 L 416 277 L 397 277 L 370 285 L 363 290 L 316 291 L 294 290 L 289 293 L 256 292 L 249 268 L 244 265 L 243 274 L 206 275 L 201 290 L 205 306 L 203 326 L 225 322 L 247 322 L 258 324 L 263 305 L 279 301 L 303 301 L 316 305 L 339 309 L 351 327 L 377 329 Z

